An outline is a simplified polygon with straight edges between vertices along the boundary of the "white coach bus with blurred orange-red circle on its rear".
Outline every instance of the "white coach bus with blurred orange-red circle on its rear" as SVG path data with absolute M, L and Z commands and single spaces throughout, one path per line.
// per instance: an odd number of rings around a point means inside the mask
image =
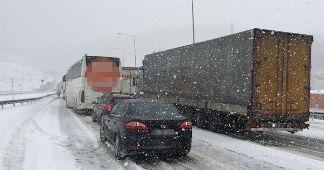
M 104 94 L 119 92 L 121 63 L 116 57 L 83 56 L 63 76 L 63 97 L 77 113 L 92 110 Z

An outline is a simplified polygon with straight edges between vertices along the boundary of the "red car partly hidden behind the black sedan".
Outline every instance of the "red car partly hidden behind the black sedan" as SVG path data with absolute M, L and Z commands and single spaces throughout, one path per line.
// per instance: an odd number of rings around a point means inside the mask
M 133 96 L 121 94 L 104 94 L 98 102 L 93 102 L 92 121 L 101 122 L 102 112 L 110 112 L 114 105 L 126 99 L 132 99 Z

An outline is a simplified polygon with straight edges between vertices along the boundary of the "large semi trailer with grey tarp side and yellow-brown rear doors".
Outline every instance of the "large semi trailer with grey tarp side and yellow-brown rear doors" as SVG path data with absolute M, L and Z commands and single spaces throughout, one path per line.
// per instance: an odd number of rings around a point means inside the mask
M 251 29 L 145 55 L 143 98 L 175 104 L 198 128 L 308 128 L 313 36 Z

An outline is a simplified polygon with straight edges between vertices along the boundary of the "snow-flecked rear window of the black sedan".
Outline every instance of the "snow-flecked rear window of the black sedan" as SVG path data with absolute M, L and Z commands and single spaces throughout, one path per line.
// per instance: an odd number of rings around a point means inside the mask
M 134 103 L 130 104 L 131 114 L 135 116 L 166 117 L 179 116 L 179 111 L 168 103 Z

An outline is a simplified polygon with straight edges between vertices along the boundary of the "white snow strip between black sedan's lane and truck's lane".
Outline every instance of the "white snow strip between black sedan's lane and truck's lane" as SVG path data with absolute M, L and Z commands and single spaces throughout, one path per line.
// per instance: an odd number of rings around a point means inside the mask
M 236 154 L 243 154 L 261 162 L 270 163 L 285 169 L 321 169 L 324 162 L 301 155 L 280 150 L 280 148 L 266 147 L 253 142 L 243 141 L 224 135 L 193 129 L 193 138 L 207 142 L 215 147 L 230 150 Z M 222 156 L 222 155 L 219 155 Z M 217 157 L 215 158 L 217 159 Z M 262 164 L 262 163 L 261 163 Z

